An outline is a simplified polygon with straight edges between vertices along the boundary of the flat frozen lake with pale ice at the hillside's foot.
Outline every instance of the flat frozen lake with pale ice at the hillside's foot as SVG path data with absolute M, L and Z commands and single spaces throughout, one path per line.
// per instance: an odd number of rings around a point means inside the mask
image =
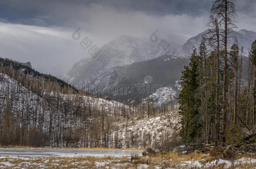
M 0 156 L 131 156 L 141 155 L 142 151 L 135 150 L 100 150 L 100 149 L 0 149 Z

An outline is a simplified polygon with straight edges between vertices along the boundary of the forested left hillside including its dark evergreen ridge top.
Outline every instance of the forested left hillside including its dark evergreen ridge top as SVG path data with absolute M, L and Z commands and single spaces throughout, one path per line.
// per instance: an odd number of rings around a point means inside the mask
M 154 133 L 130 133 L 127 125 L 126 130 L 120 131 L 126 124 L 120 126 L 120 123 L 134 117 L 157 116 L 162 110 L 167 113 L 170 108 L 165 106 L 160 111 L 154 110 L 149 103 L 146 106 L 136 105 L 78 92 L 53 76 L 1 59 L 2 146 L 144 148 L 148 143 L 153 144 L 149 140 Z M 160 141 L 158 139 L 159 147 L 162 146 Z

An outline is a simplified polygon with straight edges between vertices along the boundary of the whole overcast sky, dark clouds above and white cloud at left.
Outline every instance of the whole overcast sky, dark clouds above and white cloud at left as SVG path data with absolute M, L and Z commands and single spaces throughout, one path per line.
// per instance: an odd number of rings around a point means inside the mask
M 256 32 L 256 0 L 237 0 L 238 30 Z M 74 30 L 101 47 L 121 35 L 161 38 L 182 45 L 206 30 L 212 0 L 1 0 L 1 57 L 30 61 L 60 75 L 88 57 Z

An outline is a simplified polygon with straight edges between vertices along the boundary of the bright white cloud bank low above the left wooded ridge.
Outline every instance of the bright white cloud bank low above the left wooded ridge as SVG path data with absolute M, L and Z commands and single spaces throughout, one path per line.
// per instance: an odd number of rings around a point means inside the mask
M 80 47 L 71 40 L 71 31 L 0 23 L 0 57 L 30 61 L 43 73 L 57 76 L 68 71 L 73 63 L 87 57 Z

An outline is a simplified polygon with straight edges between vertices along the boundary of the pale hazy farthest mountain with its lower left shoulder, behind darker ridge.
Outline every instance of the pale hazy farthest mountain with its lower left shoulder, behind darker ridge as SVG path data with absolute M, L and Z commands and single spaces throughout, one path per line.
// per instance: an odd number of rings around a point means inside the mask
M 109 59 L 106 65 L 102 66 L 98 58 L 82 59 L 60 78 L 78 87 L 81 80 L 91 82 L 92 78 L 97 78 L 102 71 L 107 69 L 152 60 L 179 47 L 179 45 L 165 40 L 168 48 L 163 50 L 159 45 L 162 40 L 164 39 L 159 38 L 157 42 L 152 42 L 149 38 L 123 35 L 100 49 L 101 54 L 106 55 Z

